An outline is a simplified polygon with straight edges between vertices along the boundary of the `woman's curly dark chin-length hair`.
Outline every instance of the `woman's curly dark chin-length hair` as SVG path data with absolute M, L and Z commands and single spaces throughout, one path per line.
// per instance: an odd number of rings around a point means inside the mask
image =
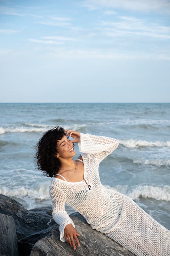
M 63 127 L 53 127 L 46 131 L 35 147 L 37 152 L 34 158 L 37 161 L 37 169 L 43 171 L 48 177 L 54 177 L 60 168 L 60 160 L 56 157 L 57 142 L 64 135 Z

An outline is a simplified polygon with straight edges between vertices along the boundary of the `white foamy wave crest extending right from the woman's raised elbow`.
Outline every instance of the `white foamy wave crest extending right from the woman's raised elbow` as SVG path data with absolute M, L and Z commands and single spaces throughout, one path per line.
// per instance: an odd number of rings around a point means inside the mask
M 129 148 L 139 147 L 170 147 L 170 141 L 119 140 L 119 144 Z

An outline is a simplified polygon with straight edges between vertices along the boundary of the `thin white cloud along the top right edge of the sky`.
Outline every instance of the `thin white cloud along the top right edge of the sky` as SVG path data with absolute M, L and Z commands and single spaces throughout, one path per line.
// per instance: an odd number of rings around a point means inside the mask
M 123 8 L 134 11 L 165 11 L 170 12 L 169 0 L 86 0 L 83 6 L 89 10 L 100 8 Z

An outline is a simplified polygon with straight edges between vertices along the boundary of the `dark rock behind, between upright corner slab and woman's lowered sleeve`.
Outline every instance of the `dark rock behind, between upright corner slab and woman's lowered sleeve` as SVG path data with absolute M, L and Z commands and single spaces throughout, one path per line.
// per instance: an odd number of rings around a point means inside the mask
M 0 194 L 0 213 L 14 218 L 18 240 L 54 225 L 51 212 L 49 207 L 28 211 L 19 202 Z

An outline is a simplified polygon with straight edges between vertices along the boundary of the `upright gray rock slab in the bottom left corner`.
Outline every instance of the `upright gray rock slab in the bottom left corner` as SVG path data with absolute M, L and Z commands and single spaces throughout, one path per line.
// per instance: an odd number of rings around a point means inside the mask
M 0 253 L 7 256 L 19 256 L 14 219 L 0 213 Z

